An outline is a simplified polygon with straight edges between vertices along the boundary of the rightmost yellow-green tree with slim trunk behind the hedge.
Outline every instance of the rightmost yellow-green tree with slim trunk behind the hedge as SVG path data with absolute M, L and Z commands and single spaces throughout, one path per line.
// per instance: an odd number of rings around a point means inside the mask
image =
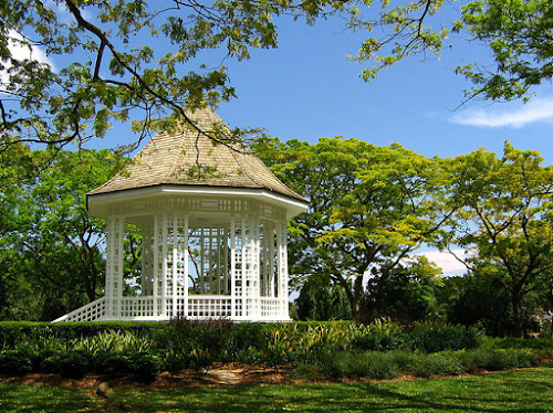
M 459 206 L 446 243 L 470 252 L 477 277 L 510 296 L 515 335 L 523 335 L 523 298 L 553 276 L 553 168 L 535 151 L 505 144 L 502 159 L 479 150 L 452 160 L 451 197 Z

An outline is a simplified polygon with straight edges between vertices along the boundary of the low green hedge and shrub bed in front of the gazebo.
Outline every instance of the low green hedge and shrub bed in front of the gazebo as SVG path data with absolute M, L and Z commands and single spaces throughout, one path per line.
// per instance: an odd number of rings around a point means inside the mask
M 28 330 L 23 341 L 4 343 L 0 350 L 1 374 L 96 373 L 128 375 L 140 381 L 150 381 L 161 371 L 176 374 L 184 369 L 207 369 L 216 361 L 271 367 L 291 363 L 299 374 L 311 371 L 337 378 L 452 375 L 535 366 L 540 359 L 550 357 L 553 348 L 551 340 L 543 339 L 487 339 L 477 348 L 482 341 L 477 341 L 473 330 L 463 327 L 419 324 L 406 329 L 389 321 L 367 326 L 237 325 L 180 319 L 173 324 L 148 324 L 150 333 L 135 329 L 137 324 L 118 324 L 117 328 L 105 324 L 96 329 L 90 328 L 94 324 L 72 324 L 59 329 L 41 329 L 46 326 L 36 324 L 10 325 L 14 331 Z M 85 335 L 77 339 L 75 332 L 67 332 L 71 329 Z M 217 335 L 222 337 L 216 338 Z M 63 342 L 62 337 L 73 338 Z M 218 343 L 227 348 L 218 349 Z

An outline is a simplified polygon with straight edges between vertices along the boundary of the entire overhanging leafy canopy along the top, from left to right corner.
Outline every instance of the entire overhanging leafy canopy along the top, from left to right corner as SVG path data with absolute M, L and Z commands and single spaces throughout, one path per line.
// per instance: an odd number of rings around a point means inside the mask
M 352 59 L 372 62 L 364 72 L 367 80 L 408 55 L 439 54 L 451 29 L 472 33 L 494 53 L 493 75 L 477 65 L 459 68 L 477 83 L 478 93 L 517 97 L 551 78 L 549 1 L 471 1 L 457 24 L 440 20 L 445 3 L 3 1 L 0 147 L 13 141 L 81 144 L 105 136 L 115 121 L 134 120 L 140 134 L 169 127 L 176 119 L 186 121 L 185 105 L 216 105 L 234 96 L 226 67 L 212 62 L 244 60 L 252 49 L 275 47 L 276 24 L 284 14 L 309 24 L 337 15 L 349 30 L 365 32 Z M 205 53 L 213 50 L 219 50 L 218 59 Z M 218 139 L 236 139 L 234 135 L 219 134 Z

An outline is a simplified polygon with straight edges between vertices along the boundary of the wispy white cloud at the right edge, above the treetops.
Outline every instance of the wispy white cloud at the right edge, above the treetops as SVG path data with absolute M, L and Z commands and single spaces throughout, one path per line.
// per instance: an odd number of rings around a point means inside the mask
M 521 128 L 539 121 L 553 121 L 553 99 L 534 98 L 526 104 L 492 105 L 487 108 L 468 109 L 453 116 L 451 121 L 461 125 L 490 128 Z

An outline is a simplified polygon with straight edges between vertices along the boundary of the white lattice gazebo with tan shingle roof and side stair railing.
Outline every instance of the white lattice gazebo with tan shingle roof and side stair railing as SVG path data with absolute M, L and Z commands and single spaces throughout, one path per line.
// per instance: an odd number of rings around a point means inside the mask
M 286 221 L 307 208 L 254 156 L 210 137 L 230 129 L 209 108 L 155 136 L 87 194 L 107 220 L 104 297 L 56 321 L 227 318 L 289 320 Z M 137 293 L 126 295 L 125 239 L 139 235 Z

